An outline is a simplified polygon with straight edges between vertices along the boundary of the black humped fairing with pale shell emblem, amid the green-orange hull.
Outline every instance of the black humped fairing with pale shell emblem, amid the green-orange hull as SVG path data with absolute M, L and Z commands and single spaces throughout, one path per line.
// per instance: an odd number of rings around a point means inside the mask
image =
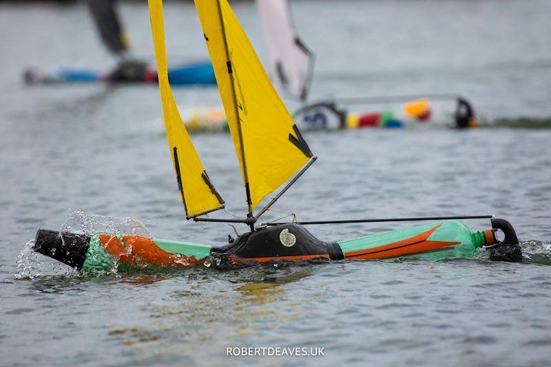
M 296 238 L 291 247 L 284 246 L 280 241 L 280 234 L 285 229 Z M 227 254 L 245 259 L 328 254 L 332 260 L 344 258 L 338 244 L 320 241 L 301 225 L 292 223 L 245 233 L 227 249 Z

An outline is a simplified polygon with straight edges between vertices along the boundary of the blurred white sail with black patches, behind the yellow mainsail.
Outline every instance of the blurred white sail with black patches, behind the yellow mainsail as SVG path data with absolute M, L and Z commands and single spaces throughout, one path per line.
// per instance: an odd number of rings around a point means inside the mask
M 306 100 L 313 55 L 293 27 L 288 0 L 256 0 L 268 43 L 275 86 Z

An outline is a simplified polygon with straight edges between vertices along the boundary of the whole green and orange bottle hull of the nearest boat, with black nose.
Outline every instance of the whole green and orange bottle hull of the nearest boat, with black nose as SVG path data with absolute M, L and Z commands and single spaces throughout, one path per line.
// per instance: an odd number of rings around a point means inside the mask
M 445 220 L 337 242 L 322 242 L 299 224 L 279 224 L 245 233 L 222 247 L 138 235 L 74 235 L 40 230 L 34 249 L 76 269 L 105 270 L 121 265 L 196 266 L 212 257 L 225 258 L 232 263 L 316 258 L 472 258 L 477 249 L 491 247 L 496 241 L 494 229 L 472 232 L 461 222 Z M 76 250 L 71 255 L 67 251 L 65 255 L 59 247 Z

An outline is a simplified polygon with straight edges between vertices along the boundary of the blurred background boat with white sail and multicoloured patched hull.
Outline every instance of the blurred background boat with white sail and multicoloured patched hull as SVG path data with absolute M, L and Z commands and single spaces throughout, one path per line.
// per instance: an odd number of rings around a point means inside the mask
M 304 105 L 293 118 L 303 131 L 360 128 L 477 127 L 471 103 L 457 94 L 331 98 L 306 103 L 314 55 L 298 36 L 288 0 L 256 0 L 268 45 L 272 80 Z M 190 132 L 228 131 L 221 107 L 180 108 Z

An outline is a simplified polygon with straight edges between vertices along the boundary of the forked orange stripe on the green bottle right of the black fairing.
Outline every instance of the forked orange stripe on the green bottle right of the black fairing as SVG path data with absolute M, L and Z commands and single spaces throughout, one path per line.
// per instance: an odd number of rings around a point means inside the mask
M 446 247 L 452 247 L 459 242 L 428 241 L 427 239 L 441 224 L 405 240 L 385 244 L 380 247 L 352 251 L 344 254 L 346 259 L 386 259 L 399 258 L 400 256 L 418 255 L 434 251 L 444 251 Z

